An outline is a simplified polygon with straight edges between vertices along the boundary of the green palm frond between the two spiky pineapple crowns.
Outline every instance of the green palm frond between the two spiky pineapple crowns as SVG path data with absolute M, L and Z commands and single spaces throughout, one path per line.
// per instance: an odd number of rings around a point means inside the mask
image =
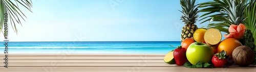
M 225 29 L 224 26 L 229 27 L 230 24 L 226 19 L 228 16 L 221 12 L 223 10 L 223 7 L 228 7 L 228 2 L 225 0 L 214 0 L 211 2 L 201 3 L 199 6 L 199 8 L 202 8 L 200 12 L 206 13 L 200 16 L 201 19 L 199 19 L 199 21 L 202 21 L 201 23 L 204 23 L 211 20 L 211 18 L 214 18 L 212 21 L 216 23 L 209 24 L 207 28 L 215 28 L 219 31 L 228 33 L 228 30 Z M 220 26 L 220 24 L 222 26 Z

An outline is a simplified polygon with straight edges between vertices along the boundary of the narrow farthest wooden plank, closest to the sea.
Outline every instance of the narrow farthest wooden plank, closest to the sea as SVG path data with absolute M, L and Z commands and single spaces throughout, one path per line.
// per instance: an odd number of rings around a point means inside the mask
M 4 57 L 5 54 L 0 54 Z M 165 54 L 8 54 L 9 56 L 165 56 Z

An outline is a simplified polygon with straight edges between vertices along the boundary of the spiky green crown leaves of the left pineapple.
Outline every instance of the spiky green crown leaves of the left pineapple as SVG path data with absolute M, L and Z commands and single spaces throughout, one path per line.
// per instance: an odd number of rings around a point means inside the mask
M 196 0 L 180 0 L 182 13 L 181 19 L 185 24 L 196 23 L 197 18 L 199 17 L 198 10 L 199 4 L 195 5 Z

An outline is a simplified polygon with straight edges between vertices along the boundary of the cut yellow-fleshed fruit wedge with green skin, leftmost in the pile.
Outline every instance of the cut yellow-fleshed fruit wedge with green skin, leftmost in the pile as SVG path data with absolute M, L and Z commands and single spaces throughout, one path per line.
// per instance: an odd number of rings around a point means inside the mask
M 165 63 L 174 64 L 175 63 L 174 51 L 171 51 L 171 52 L 167 53 L 163 60 L 164 60 Z

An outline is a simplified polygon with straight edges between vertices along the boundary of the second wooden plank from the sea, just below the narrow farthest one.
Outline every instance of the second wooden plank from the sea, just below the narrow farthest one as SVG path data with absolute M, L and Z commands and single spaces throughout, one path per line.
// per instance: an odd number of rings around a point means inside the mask
M 57 59 L 57 60 L 82 60 L 82 59 L 162 59 L 164 56 L 13 56 L 8 57 L 9 60 L 23 60 L 23 59 L 29 59 L 29 60 L 45 60 L 45 59 Z M 5 59 L 5 57 L 0 57 L 0 59 Z

